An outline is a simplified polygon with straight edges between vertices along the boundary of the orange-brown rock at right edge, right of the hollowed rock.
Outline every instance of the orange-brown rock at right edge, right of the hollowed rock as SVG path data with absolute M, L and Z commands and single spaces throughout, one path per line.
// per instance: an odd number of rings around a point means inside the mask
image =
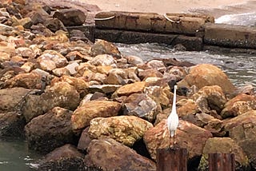
M 254 95 L 241 93 L 226 102 L 225 108 L 222 109 L 221 116 L 223 118 L 236 117 L 252 109 L 256 109 L 256 97 Z

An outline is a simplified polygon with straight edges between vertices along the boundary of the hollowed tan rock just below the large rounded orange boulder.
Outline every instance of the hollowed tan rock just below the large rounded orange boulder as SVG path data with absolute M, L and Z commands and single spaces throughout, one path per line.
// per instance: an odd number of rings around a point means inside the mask
M 220 113 L 226 103 L 225 94 L 218 85 L 204 86 L 192 98 L 199 108 L 206 113 L 210 110 L 216 110 L 217 113 Z

